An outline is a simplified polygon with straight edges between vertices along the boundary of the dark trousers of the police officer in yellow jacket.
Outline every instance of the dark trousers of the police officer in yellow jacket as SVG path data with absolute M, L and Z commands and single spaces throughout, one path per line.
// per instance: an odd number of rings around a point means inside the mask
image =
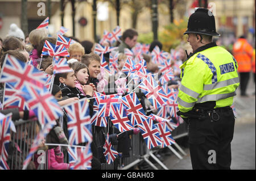
M 232 108 L 216 111 L 220 120 L 189 118 L 188 138 L 193 169 L 230 169 L 230 142 L 234 133 Z

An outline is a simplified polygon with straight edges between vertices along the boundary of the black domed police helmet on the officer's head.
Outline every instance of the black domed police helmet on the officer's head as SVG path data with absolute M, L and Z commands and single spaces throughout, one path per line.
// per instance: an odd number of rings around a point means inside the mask
M 208 9 L 197 9 L 188 19 L 188 28 L 183 35 L 187 33 L 199 33 L 209 36 L 220 36 L 216 32 L 215 19 Z

